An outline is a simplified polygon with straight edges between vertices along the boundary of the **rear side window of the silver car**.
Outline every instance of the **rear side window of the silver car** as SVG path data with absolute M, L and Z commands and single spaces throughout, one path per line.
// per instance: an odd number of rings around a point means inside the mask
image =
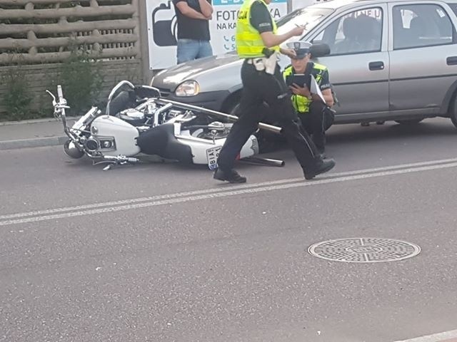
M 393 48 L 418 48 L 453 43 L 453 24 L 436 4 L 393 7 Z

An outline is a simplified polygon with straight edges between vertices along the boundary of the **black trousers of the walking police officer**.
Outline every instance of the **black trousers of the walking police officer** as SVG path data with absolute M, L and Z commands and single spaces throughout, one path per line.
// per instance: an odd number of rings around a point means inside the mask
M 279 66 L 274 76 L 264 71 L 256 71 L 252 64 L 244 61 L 241 67 L 243 94 L 236 115 L 239 119 L 233 124 L 229 136 L 219 153 L 218 165 L 221 170 L 230 170 L 236 156 L 249 135 L 266 115 L 262 103 L 268 103 L 278 125 L 283 129 L 288 144 L 296 155 L 303 170 L 311 172 L 320 160 L 316 146 L 308 134 L 301 130 L 298 117 L 293 110 L 288 88 Z

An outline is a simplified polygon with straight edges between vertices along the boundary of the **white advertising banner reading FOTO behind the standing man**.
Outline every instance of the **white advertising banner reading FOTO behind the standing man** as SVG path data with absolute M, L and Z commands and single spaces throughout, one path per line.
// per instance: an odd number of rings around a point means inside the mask
M 287 14 L 288 0 L 273 0 L 268 6 L 275 20 Z M 238 10 L 243 0 L 213 0 L 213 19 L 209 21 L 213 53 L 219 55 L 235 49 Z M 146 0 L 149 41 L 149 68 L 164 69 L 176 65 L 178 28 L 171 0 Z

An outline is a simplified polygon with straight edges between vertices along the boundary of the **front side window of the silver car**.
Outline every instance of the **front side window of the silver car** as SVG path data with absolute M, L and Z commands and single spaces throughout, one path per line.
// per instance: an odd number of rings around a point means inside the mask
M 379 7 L 353 11 L 339 17 L 313 39 L 326 43 L 330 55 L 381 51 L 383 10 Z

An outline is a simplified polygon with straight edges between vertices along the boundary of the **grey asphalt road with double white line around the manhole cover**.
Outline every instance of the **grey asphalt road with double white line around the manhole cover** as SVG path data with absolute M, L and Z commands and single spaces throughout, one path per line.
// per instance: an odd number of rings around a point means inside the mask
M 457 329 L 457 130 L 331 128 L 331 173 L 239 164 L 104 172 L 61 147 L 0 151 L 0 341 L 387 342 Z M 330 239 L 416 257 L 313 257 Z

